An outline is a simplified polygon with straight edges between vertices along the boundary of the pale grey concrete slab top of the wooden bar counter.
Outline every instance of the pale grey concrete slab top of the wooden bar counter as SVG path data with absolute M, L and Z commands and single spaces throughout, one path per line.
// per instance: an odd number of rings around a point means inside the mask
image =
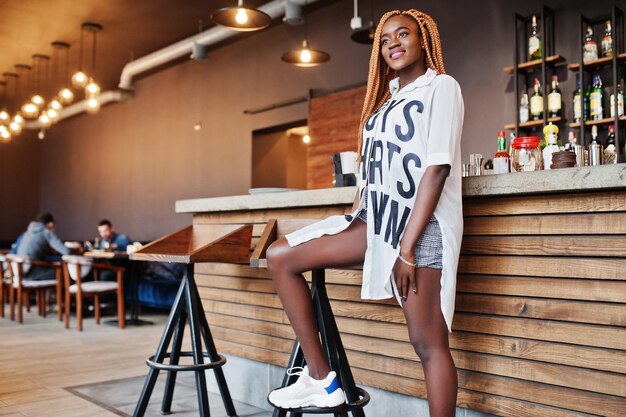
M 464 197 L 626 189 L 626 164 L 463 178 Z M 177 213 L 323 207 L 352 204 L 356 187 L 198 198 L 176 202 Z

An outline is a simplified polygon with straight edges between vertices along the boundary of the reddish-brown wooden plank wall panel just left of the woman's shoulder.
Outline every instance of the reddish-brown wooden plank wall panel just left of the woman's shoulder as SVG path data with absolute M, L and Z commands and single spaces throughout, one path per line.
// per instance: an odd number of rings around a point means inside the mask
M 307 188 L 333 186 L 331 157 L 356 151 L 365 87 L 341 91 L 311 100 L 307 153 Z

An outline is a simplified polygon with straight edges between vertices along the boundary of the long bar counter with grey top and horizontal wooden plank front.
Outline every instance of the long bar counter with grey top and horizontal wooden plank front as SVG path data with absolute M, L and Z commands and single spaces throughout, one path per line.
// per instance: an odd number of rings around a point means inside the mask
M 355 187 L 178 201 L 195 224 L 349 212 Z M 626 415 L 626 164 L 463 179 L 465 229 L 450 335 L 458 406 L 499 416 Z M 293 222 L 292 221 L 292 222 Z M 297 221 L 296 221 L 297 223 Z M 293 331 L 267 271 L 198 264 L 218 350 L 285 366 Z M 361 271 L 327 271 L 357 383 L 425 398 L 395 300 Z M 226 368 L 226 373 L 228 373 Z

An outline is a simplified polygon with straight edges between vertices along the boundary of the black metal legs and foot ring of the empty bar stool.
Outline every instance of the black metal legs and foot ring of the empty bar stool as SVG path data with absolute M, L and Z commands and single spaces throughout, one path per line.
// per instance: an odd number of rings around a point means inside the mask
M 181 347 L 187 322 L 189 323 L 191 333 L 192 350 L 190 352 L 183 352 L 181 351 Z M 174 342 L 172 350 L 168 352 L 167 349 L 172 341 L 172 336 L 174 337 Z M 202 348 L 203 341 L 206 351 Z M 178 362 L 181 356 L 193 357 L 193 365 L 180 365 Z M 167 358 L 169 358 L 169 363 L 164 363 Z M 208 362 L 204 361 L 205 358 L 208 359 Z M 148 372 L 148 377 L 146 378 L 133 416 L 142 417 L 145 414 L 154 385 L 159 376 L 159 371 L 166 371 L 167 380 L 165 382 L 165 393 L 161 404 L 161 413 L 171 413 L 176 374 L 178 372 L 195 372 L 199 415 L 201 417 L 209 417 L 209 399 L 205 371 L 212 369 L 215 372 L 215 379 L 217 380 L 217 386 L 219 387 L 222 400 L 224 401 L 226 413 L 229 417 L 236 417 L 237 412 L 235 411 L 235 406 L 233 405 L 233 400 L 230 396 L 226 379 L 224 378 L 224 372 L 221 368 L 225 363 L 226 358 L 218 354 L 215 348 L 215 343 L 213 342 L 213 337 L 209 330 L 209 323 L 204 315 L 202 302 L 200 301 L 198 289 L 194 281 L 193 264 L 189 264 L 187 266 L 187 273 L 180 284 L 170 316 L 167 319 L 165 331 L 161 337 L 156 354 L 146 360 L 150 371 Z

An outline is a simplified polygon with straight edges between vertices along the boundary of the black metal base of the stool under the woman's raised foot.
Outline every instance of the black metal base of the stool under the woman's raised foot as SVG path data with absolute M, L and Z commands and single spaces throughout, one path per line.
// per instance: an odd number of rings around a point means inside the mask
M 315 318 L 322 339 L 322 346 L 326 352 L 326 357 L 330 363 L 330 368 L 337 373 L 339 385 L 346 395 L 346 404 L 336 407 L 302 407 L 302 408 L 280 408 L 274 406 L 272 417 L 287 417 L 287 413 L 291 417 L 301 417 L 302 414 L 333 414 L 335 417 L 348 417 L 351 413 L 353 417 L 365 417 L 363 407 L 370 401 L 370 395 L 363 388 L 357 387 L 354 383 L 350 364 L 346 351 L 341 342 L 339 329 L 335 322 L 328 294 L 326 293 L 326 283 L 323 269 L 315 269 L 312 271 L 313 282 L 311 284 L 311 296 L 313 297 L 313 307 L 315 309 Z M 304 367 L 306 362 L 304 354 L 298 340 L 293 346 L 289 365 L 287 368 Z M 285 373 L 283 383 L 280 388 L 287 387 L 297 380 L 297 375 L 289 375 Z

